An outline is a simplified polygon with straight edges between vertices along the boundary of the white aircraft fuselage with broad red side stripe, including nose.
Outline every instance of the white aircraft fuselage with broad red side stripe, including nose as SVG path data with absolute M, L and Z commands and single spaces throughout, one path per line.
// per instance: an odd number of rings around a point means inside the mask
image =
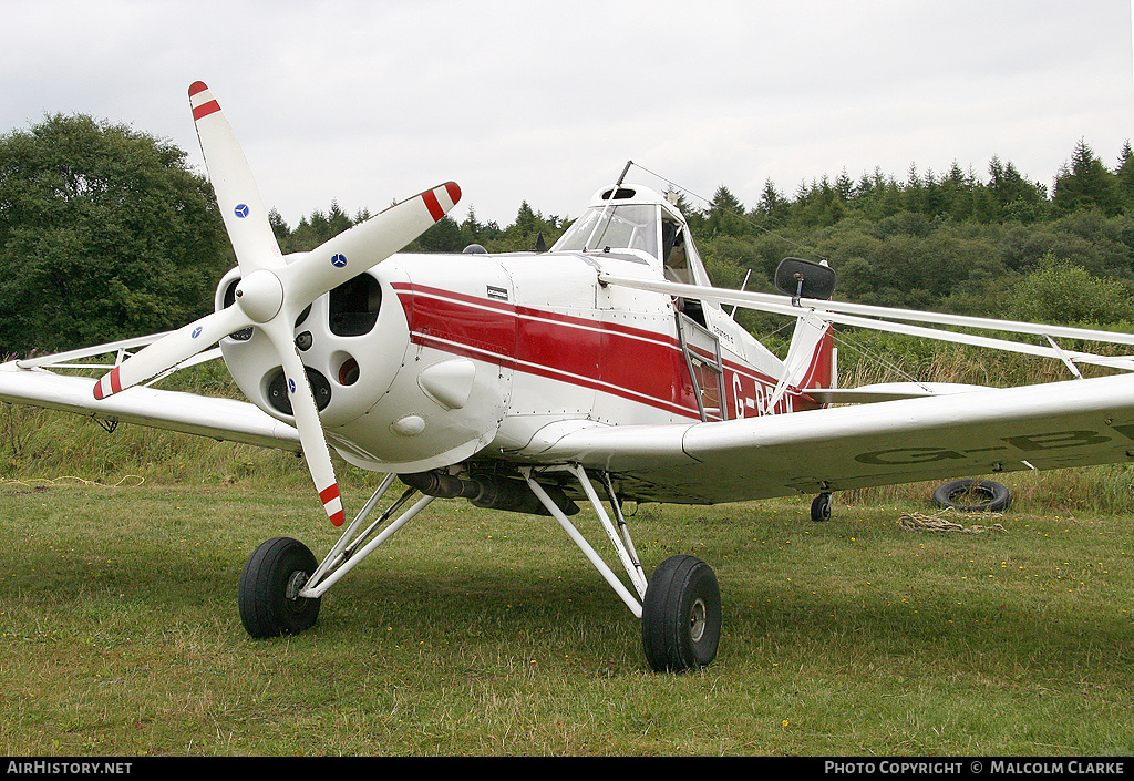
M 579 427 L 814 406 L 796 387 L 768 406 L 784 362 L 720 306 L 601 283 L 601 272 L 708 282 L 679 212 L 629 192 L 635 215 L 655 216 L 643 227 L 657 249 L 628 236 L 589 249 L 576 235 L 542 253 L 404 253 L 313 302 L 296 344 L 329 443 L 355 465 L 407 473 L 474 456 L 534 461 Z M 599 198 L 589 215 L 598 221 L 606 207 Z M 680 233 L 677 269 L 663 261 L 663 222 Z M 221 347 L 249 400 L 288 420 L 265 341 L 253 329 Z

